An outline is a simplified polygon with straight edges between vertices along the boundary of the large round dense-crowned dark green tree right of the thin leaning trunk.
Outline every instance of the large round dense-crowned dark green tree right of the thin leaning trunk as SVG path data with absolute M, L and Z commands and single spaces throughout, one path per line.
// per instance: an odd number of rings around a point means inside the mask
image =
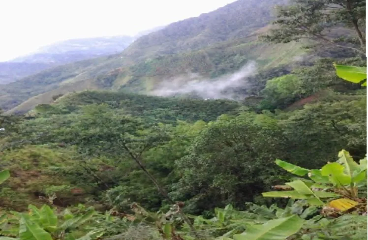
M 198 212 L 232 202 L 243 207 L 278 178 L 271 159 L 284 155 L 282 132 L 265 115 L 221 116 L 194 140 L 177 161 L 182 178 L 171 193 L 190 199 L 187 209 Z

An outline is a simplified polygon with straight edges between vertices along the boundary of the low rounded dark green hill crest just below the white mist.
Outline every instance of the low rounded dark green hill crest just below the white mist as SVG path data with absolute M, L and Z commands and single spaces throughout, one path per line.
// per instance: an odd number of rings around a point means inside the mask
M 42 104 L 31 111 L 38 114 L 69 114 L 91 104 L 107 104 L 112 109 L 123 110 L 125 114 L 157 122 L 176 124 L 177 120 L 211 121 L 222 114 L 235 114 L 242 106 L 237 101 L 226 99 L 207 100 L 157 97 L 117 91 L 86 90 L 70 93 L 57 99 L 53 104 Z

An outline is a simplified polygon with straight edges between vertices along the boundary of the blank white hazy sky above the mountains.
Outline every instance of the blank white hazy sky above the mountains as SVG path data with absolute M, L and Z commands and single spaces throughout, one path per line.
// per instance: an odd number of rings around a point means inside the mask
M 57 41 L 134 35 L 235 0 L 0 0 L 0 61 Z

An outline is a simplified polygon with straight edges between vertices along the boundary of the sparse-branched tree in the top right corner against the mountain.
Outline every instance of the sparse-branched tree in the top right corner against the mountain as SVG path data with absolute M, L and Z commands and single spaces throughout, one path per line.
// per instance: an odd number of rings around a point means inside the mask
M 276 43 L 311 39 L 365 55 L 365 21 L 365 0 L 292 0 L 291 5 L 277 7 L 275 28 L 263 39 Z M 352 36 L 346 28 L 355 32 L 354 38 L 346 37 Z

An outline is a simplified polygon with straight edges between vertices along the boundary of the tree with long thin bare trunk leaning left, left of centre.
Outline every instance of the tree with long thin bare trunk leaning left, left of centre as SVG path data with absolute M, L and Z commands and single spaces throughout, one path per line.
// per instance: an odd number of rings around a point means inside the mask
M 165 125 L 147 124 L 138 118 L 112 111 L 108 105 L 89 105 L 82 109 L 84 115 L 72 126 L 72 136 L 79 150 L 86 155 L 131 159 L 153 182 L 157 190 L 172 205 L 176 203 L 166 189 L 148 171 L 143 162 L 143 153 L 170 139 Z M 179 208 L 184 221 L 196 232 L 184 212 Z

